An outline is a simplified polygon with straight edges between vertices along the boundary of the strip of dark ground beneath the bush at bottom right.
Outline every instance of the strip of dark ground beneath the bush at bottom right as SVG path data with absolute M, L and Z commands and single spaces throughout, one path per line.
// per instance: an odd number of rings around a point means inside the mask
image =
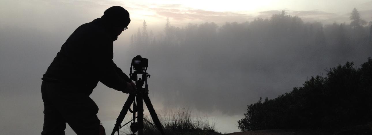
M 235 132 L 227 135 L 372 135 L 372 123 L 329 131 L 310 129 L 271 129 Z

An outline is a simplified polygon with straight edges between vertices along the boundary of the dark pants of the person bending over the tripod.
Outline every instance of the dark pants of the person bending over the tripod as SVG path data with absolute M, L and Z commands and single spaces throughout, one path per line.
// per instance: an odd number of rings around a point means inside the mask
M 89 95 L 79 91 L 78 85 L 43 81 L 41 94 L 44 101 L 42 135 L 64 135 L 66 122 L 77 135 L 98 135 L 100 120 L 98 107 Z

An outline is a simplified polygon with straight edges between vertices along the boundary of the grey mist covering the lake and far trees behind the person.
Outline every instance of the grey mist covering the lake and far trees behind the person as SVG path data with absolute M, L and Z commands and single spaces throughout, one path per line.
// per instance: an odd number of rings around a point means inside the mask
M 90 16 L 41 26 L 36 19 L 30 19 L 32 25 L 1 19 L 0 106 L 5 109 L 0 112 L 0 127 L 4 134 L 41 132 L 41 77 L 67 37 L 79 25 L 99 17 Z M 216 118 L 220 132 L 231 132 L 247 105 L 259 97 L 275 98 L 338 64 L 350 61 L 359 66 L 372 57 L 368 21 L 360 26 L 323 24 L 278 13 L 249 22 L 176 27 L 164 19 L 164 24 L 148 21 L 146 25 L 146 30 L 133 26 L 119 36 L 114 62 L 128 74 L 133 57 L 148 58 L 149 96 L 156 111 L 187 106 Z M 100 108 L 101 121 L 115 120 L 127 96 L 99 83 L 91 98 Z M 113 124 L 106 124 L 106 131 Z

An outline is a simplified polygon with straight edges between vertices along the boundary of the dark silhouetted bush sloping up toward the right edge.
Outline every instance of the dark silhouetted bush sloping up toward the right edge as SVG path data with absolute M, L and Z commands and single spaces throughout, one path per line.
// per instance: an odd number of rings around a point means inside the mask
M 340 128 L 372 120 L 372 59 L 330 69 L 275 99 L 248 105 L 241 131 L 283 128 Z

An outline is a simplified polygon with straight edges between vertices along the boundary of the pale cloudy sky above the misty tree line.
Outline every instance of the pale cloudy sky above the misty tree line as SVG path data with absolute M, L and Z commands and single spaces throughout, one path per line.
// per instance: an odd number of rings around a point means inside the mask
M 176 26 L 204 22 L 215 22 L 217 24 L 246 22 L 257 17 L 269 18 L 272 14 L 280 13 L 281 10 L 285 10 L 286 13 L 293 16 L 299 16 L 305 22 L 349 23 L 349 16 L 354 7 L 360 11 L 362 19 L 372 21 L 372 0 L 1 1 L 0 26 L 2 24 L 32 25 L 37 23 L 37 25 L 44 25 L 46 30 L 53 29 L 55 24 L 58 25 L 65 19 L 69 19 L 69 23 L 77 22 L 78 24 L 91 21 L 102 16 L 105 9 L 115 5 L 123 6 L 129 11 L 133 21 L 130 24 L 132 28 L 140 27 L 143 20 L 153 25 L 164 25 L 167 17 Z

